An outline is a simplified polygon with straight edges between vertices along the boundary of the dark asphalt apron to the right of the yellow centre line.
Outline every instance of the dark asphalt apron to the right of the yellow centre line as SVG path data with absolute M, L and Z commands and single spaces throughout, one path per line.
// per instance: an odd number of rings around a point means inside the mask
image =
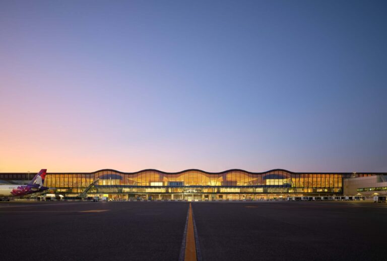
M 387 260 L 387 205 L 194 203 L 203 260 Z

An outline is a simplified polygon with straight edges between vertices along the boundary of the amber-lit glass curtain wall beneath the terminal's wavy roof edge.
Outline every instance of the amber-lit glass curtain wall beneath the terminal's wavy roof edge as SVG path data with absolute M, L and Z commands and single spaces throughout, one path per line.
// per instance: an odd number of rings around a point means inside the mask
M 372 174 L 369 174 L 372 175 Z M 369 176 L 361 173 L 359 177 Z M 343 179 L 350 173 L 293 173 L 272 170 L 252 173 L 244 170 L 228 170 L 208 173 L 202 170 L 186 170 L 166 173 L 158 170 L 142 170 L 123 173 L 100 170 L 92 173 L 47 173 L 45 186 L 59 192 L 81 193 L 89 186 L 96 193 L 126 193 L 153 188 L 155 192 L 174 193 L 184 189 L 213 193 L 340 193 Z M 89 188 L 90 189 L 90 188 Z M 125 190 L 123 190 L 125 189 Z

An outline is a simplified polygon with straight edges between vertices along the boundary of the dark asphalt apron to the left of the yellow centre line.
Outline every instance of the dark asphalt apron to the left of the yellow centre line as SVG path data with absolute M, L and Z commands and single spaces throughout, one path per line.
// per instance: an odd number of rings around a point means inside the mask
M 0 204 L 1 260 L 178 260 L 188 204 Z M 22 207 L 23 206 L 23 207 Z M 107 210 L 103 212 L 79 212 Z

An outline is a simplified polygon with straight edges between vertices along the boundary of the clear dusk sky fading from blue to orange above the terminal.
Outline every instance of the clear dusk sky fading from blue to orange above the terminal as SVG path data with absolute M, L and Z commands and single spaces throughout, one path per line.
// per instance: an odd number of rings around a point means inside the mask
M 387 171 L 385 1 L 0 1 L 0 172 Z

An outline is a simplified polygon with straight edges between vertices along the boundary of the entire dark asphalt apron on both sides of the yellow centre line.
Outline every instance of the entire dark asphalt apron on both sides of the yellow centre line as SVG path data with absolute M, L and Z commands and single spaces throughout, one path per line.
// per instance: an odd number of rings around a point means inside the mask
M 178 260 L 188 205 L 2 202 L 0 259 Z M 203 260 L 387 259 L 387 204 L 197 202 L 192 210 Z

